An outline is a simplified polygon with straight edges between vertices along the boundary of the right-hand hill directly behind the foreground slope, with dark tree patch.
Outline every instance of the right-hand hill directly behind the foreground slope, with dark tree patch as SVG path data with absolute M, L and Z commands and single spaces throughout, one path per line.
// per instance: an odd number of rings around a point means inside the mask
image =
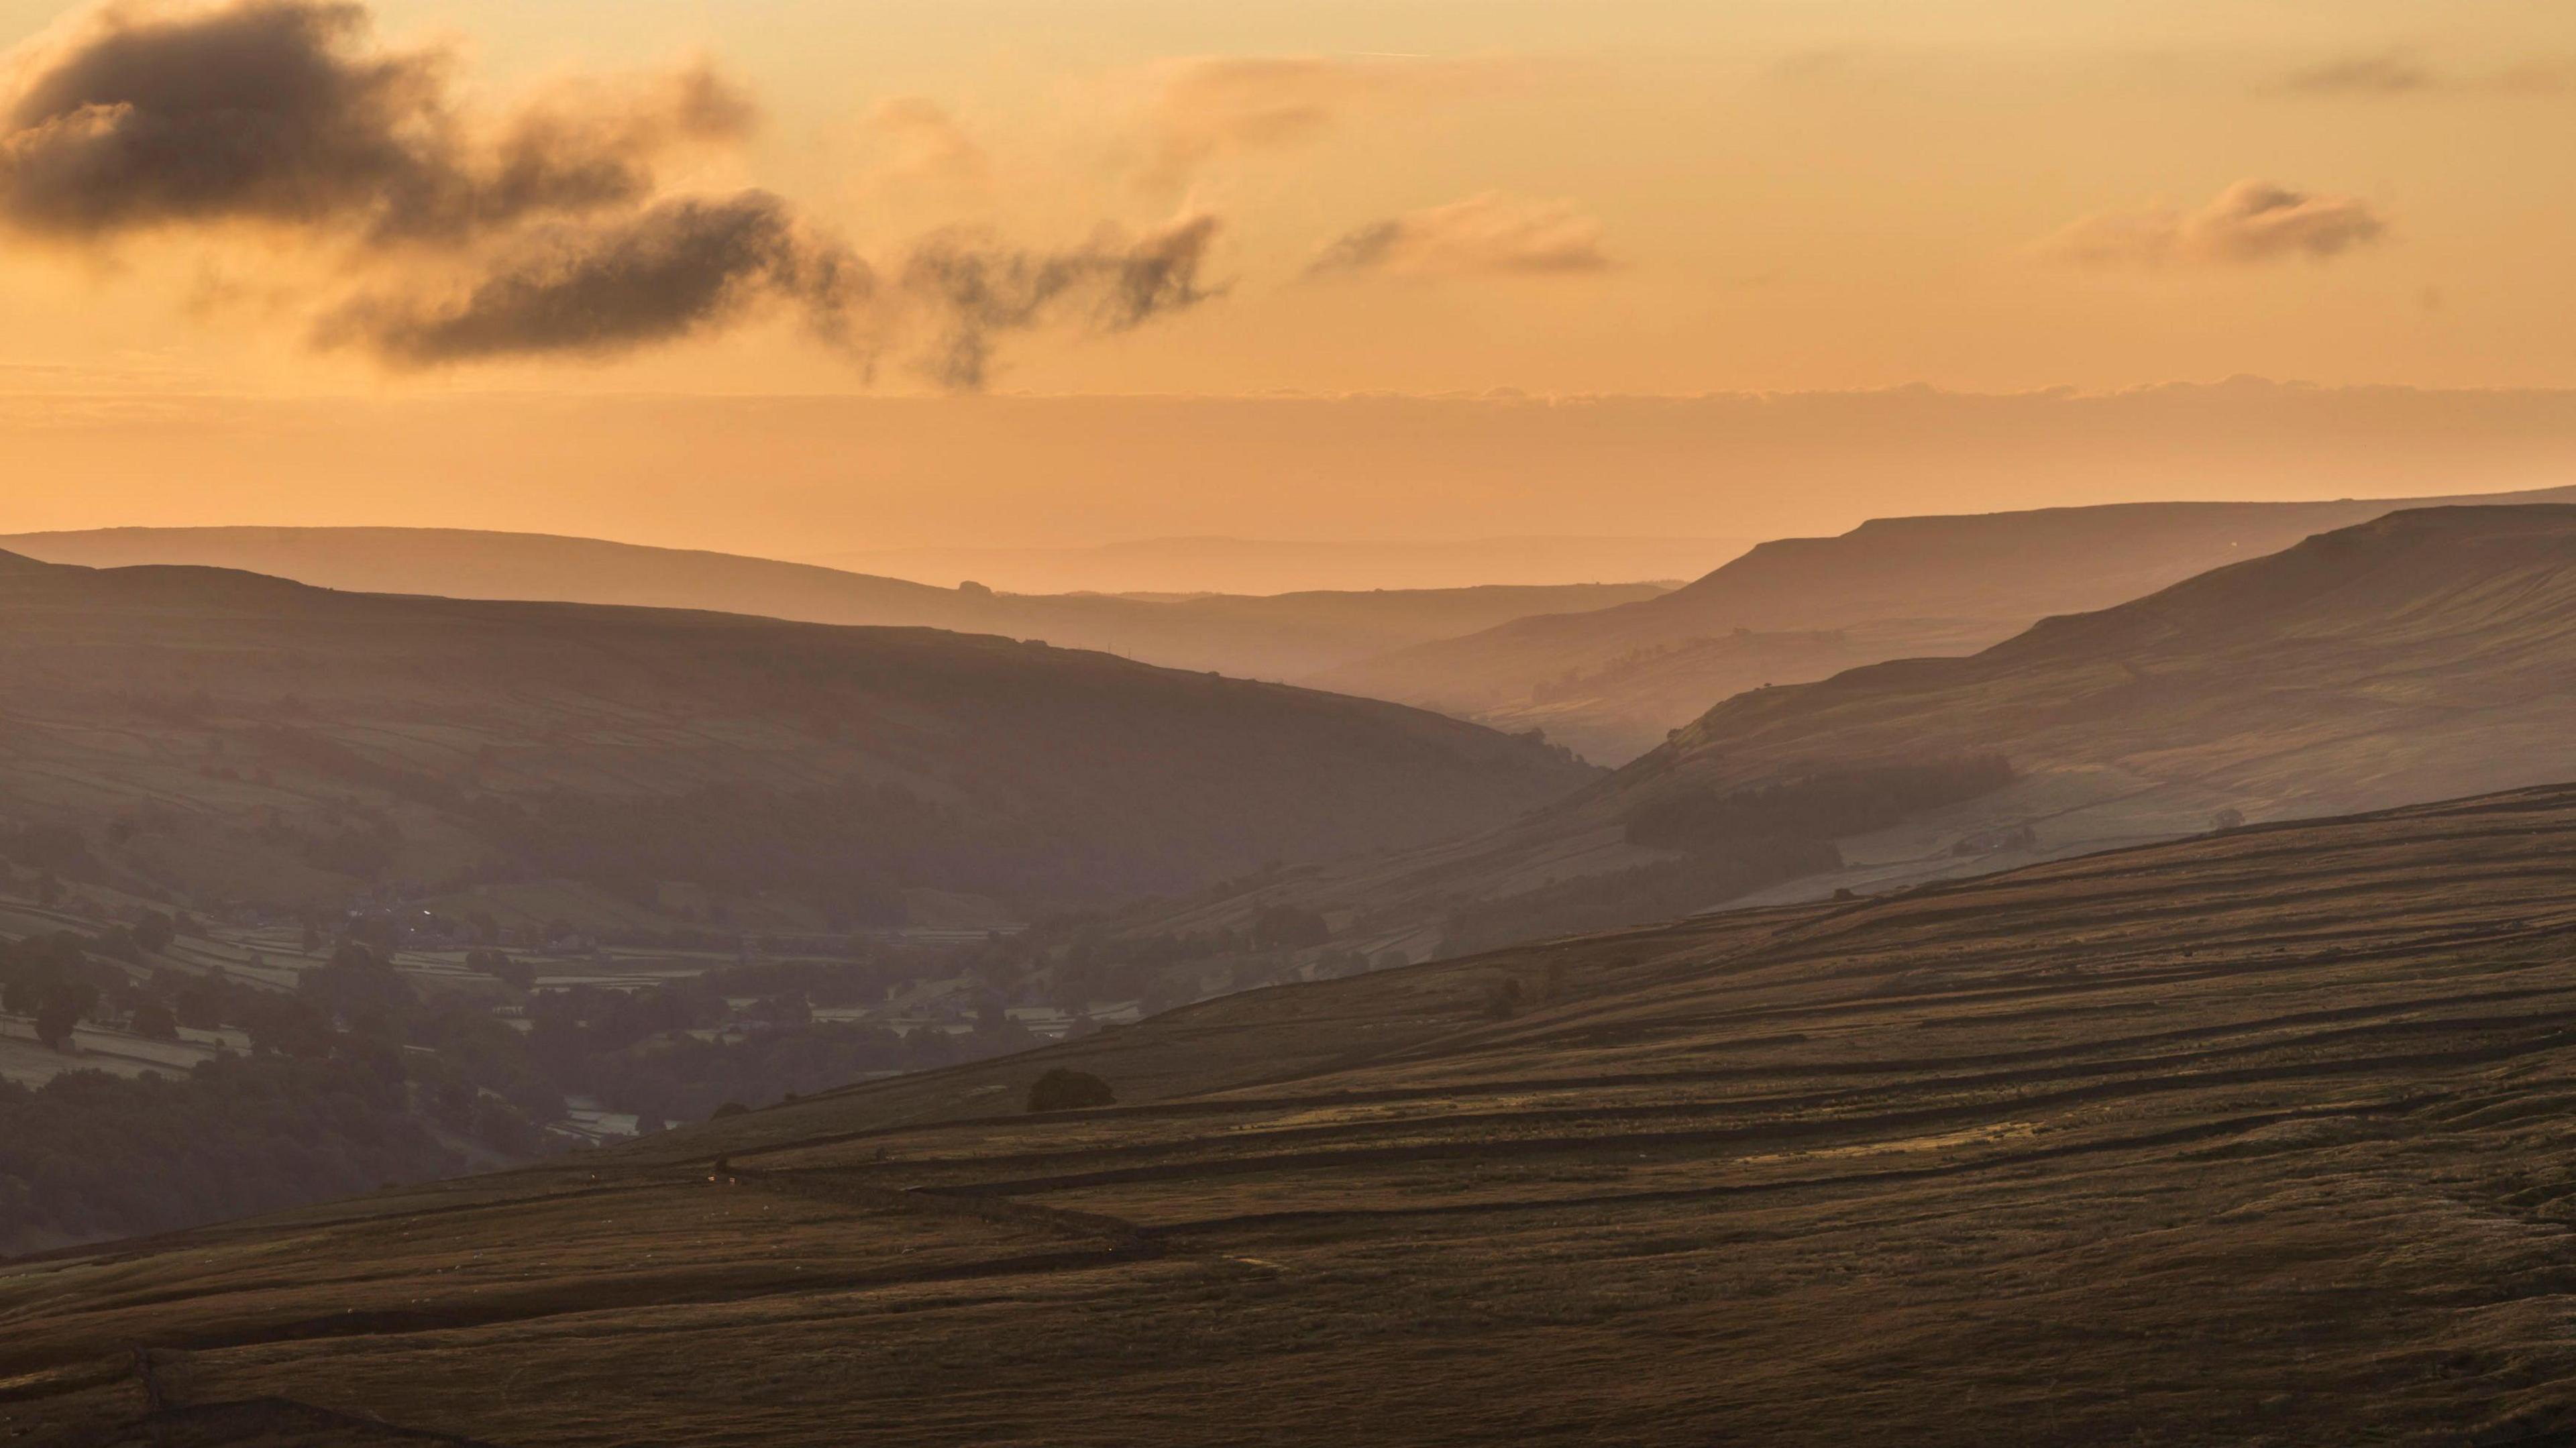
M 1865 776 L 1891 765 L 1981 757 L 2007 763 L 2009 783 L 1935 788 L 1862 809 L 1857 824 L 1844 809 L 1811 830 L 1723 827 L 1749 809 L 1744 791 L 1790 786 L 1777 806 L 1801 788 L 1834 794 L 1834 781 L 1886 786 Z M 1564 933 L 1618 922 L 1620 910 L 1873 891 L 2192 835 L 2221 817 L 2571 776 L 2576 508 L 2424 508 L 2048 618 L 1971 657 L 1739 693 L 1597 786 L 1484 837 L 1218 897 L 1172 928 L 1298 904 L 1363 951 L 1422 958 L 1443 940 Z M 1674 837 L 1638 837 L 1649 809 L 1718 824 L 1695 840 L 1687 822 Z M 1654 889 L 1620 907 L 1618 881 Z M 1520 904 L 1497 912 L 1510 899 Z

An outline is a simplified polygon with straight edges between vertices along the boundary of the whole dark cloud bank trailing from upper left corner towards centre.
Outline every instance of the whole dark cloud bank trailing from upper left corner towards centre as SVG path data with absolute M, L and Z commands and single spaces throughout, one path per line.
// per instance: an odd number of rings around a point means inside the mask
M 860 363 L 927 335 L 922 371 L 979 386 L 1002 332 L 1118 332 L 1216 294 L 1206 216 L 1056 252 L 933 237 L 881 271 L 773 193 L 670 196 L 672 155 L 757 119 L 706 64 L 507 111 L 464 106 L 459 70 L 374 44 L 355 0 L 98 8 L 0 70 L 0 232 L 299 245 L 304 281 L 337 291 L 312 340 L 397 368 L 611 358 L 791 312 Z M 925 103 L 878 121 L 940 165 L 981 160 Z

